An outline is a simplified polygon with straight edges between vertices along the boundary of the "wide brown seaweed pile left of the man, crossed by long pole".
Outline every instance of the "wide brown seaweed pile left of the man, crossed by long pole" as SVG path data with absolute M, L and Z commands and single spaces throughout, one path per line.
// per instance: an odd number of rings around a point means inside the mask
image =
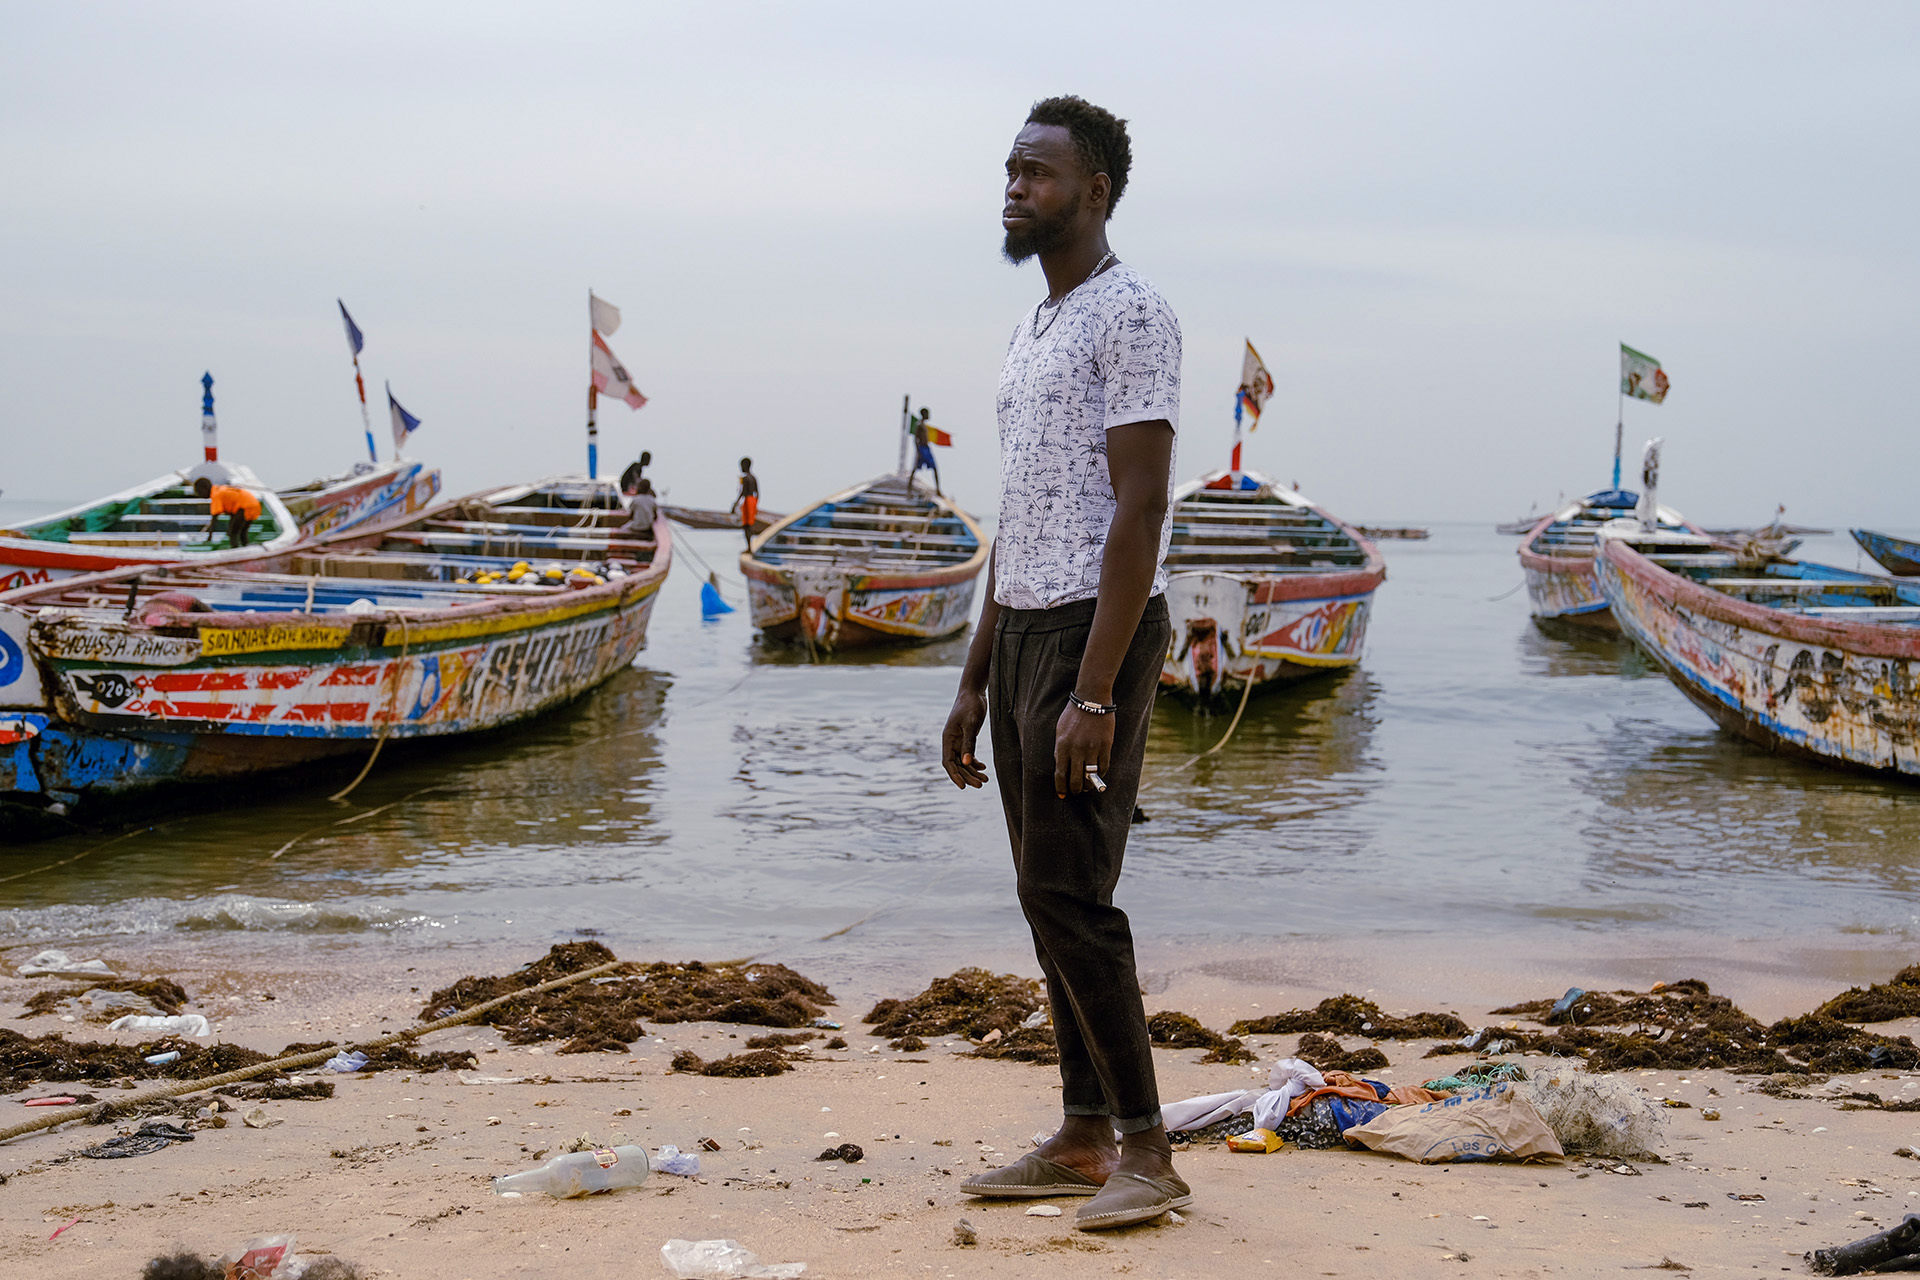
M 463 977 L 436 990 L 420 1021 L 509 996 L 614 960 L 599 942 L 561 942 L 530 965 L 497 977 Z M 509 1044 L 564 1040 L 561 1054 L 624 1052 L 655 1023 L 804 1027 L 833 1004 L 828 988 L 785 965 L 624 963 L 605 977 L 511 1000 L 486 1015 Z

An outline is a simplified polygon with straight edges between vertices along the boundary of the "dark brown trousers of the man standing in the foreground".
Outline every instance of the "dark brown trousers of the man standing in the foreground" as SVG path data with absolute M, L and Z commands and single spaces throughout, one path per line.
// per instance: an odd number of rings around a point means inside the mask
M 1133 931 L 1114 906 L 1146 723 L 1154 714 L 1171 626 L 1167 601 L 1146 603 L 1114 681 L 1114 760 L 1106 791 L 1054 791 L 1054 733 L 1079 677 L 1094 601 L 1002 608 L 993 643 L 993 758 L 1014 842 L 1020 908 L 1046 975 L 1068 1115 L 1108 1115 L 1119 1132 L 1160 1125 L 1160 1088 Z

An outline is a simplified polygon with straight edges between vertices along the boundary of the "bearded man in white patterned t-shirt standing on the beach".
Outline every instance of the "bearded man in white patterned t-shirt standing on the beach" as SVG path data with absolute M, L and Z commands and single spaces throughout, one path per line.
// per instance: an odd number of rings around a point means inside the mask
M 973 745 L 991 712 L 1066 1113 L 1037 1151 L 962 1190 L 1091 1196 L 1083 1230 L 1192 1201 L 1160 1121 L 1133 933 L 1114 906 L 1171 639 L 1181 420 L 1179 320 L 1106 242 L 1129 165 L 1127 123 L 1081 98 L 1037 102 L 1006 157 L 1004 253 L 1041 259 L 1046 297 L 1000 368 L 1000 530 L 941 741 L 954 785 L 985 785 Z

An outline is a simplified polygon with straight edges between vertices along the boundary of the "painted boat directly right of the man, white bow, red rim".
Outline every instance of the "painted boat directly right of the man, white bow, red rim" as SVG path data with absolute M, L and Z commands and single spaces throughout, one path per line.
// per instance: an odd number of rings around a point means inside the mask
M 1252 470 L 1173 493 L 1160 687 L 1194 702 L 1350 668 L 1386 562 L 1350 524 Z

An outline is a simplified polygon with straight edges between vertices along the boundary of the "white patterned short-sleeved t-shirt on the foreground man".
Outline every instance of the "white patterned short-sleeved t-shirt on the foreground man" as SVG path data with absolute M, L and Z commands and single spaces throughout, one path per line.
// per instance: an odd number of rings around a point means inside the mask
M 1165 418 L 1181 426 L 1181 322 L 1131 267 L 1117 265 L 1035 305 L 1000 368 L 1000 528 L 995 601 L 1054 608 L 1100 593 L 1114 522 L 1106 434 Z M 1160 526 L 1154 595 L 1167 589 L 1173 468 Z

